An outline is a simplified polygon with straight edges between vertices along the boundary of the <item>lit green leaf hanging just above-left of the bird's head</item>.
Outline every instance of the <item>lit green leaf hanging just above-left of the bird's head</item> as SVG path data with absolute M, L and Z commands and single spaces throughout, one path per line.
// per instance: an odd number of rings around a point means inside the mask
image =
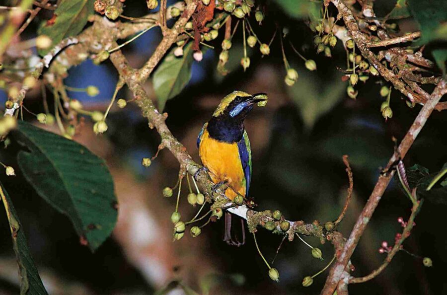
M 168 99 L 178 95 L 191 79 L 193 63 L 192 42 L 183 48 L 183 56 L 174 56 L 172 48 L 152 77 L 153 88 L 158 98 L 158 109 L 163 111 Z

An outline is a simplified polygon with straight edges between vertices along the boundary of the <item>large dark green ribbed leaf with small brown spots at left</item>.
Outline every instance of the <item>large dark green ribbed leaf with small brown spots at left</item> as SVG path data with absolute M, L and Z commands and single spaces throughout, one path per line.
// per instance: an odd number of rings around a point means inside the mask
M 23 121 L 13 135 L 30 151 L 17 155 L 25 178 L 69 217 L 92 251 L 97 249 L 117 219 L 113 180 L 104 160 L 74 141 Z

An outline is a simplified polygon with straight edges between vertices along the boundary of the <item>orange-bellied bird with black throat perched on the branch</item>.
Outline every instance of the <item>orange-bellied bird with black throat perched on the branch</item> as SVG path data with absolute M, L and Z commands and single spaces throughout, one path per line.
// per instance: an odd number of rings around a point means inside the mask
M 233 200 L 241 195 L 248 197 L 251 182 L 251 148 L 244 119 L 254 105 L 266 101 L 265 93 L 250 95 L 243 91 L 233 91 L 226 95 L 205 123 L 197 138 L 197 148 L 202 164 L 211 180 L 227 184 L 225 196 Z M 232 238 L 231 214 L 225 212 L 224 241 L 229 245 L 240 246 L 245 243 L 244 222 L 242 242 Z

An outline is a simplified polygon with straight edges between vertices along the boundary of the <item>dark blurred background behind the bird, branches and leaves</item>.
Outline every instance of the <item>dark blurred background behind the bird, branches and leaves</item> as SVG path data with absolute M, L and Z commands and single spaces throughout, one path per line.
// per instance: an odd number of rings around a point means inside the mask
M 375 4 L 378 15 L 384 15 L 393 5 L 386 4 L 387 1 L 381 1 L 382 5 L 378 2 Z M 147 13 L 144 1 L 128 0 L 126 4 L 125 15 Z M 384 100 L 379 90 L 388 83 L 378 77 L 370 77 L 367 83 L 359 82 L 356 86 L 359 95 L 352 100 L 346 94 L 348 83 L 342 81 L 343 74 L 335 69 L 336 66 L 346 67 L 341 42 L 338 41 L 332 49 L 332 58 L 315 55 L 313 33 L 303 23 L 275 10 L 274 6 L 271 9 L 262 26 L 256 24 L 254 17 L 251 23 L 266 43 L 277 27 L 289 29 L 284 39 L 286 55 L 298 71 L 297 83 L 293 87 L 284 83 L 286 73 L 279 34 L 272 43 L 270 56 L 261 57 L 258 47 L 248 49 L 251 66 L 244 73 L 238 65 L 242 52 L 240 30 L 230 50 L 227 68 L 231 73 L 222 77 L 216 71 L 223 38 L 221 31 L 213 42 L 217 51 L 208 50 L 204 60 L 193 65 L 191 82 L 166 104 L 165 111 L 169 114 L 166 123 L 174 136 L 199 160 L 196 136 L 224 95 L 236 89 L 268 93 L 267 106 L 255 108 L 246 120 L 253 153 L 250 195 L 255 198 L 257 209 L 279 209 L 289 220 L 319 220 L 322 223 L 335 220 L 346 197 L 348 178 L 342 155 L 348 154 L 354 173 L 354 197 L 341 225 L 341 232 L 348 236 L 373 190 L 380 167 L 393 152 L 392 137 L 398 142 L 403 138 L 421 106 L 407 107 L 400 92 L 393 90 L 390 104 L 393 117 L 385 122 L 379 111 Z M 39 20 L 45 17 L 49 16 L 42 13 Z M 33 25 L 35 28 L 37 22 Z M 413 28 L 413 24 L 405 20 L 399 25 L 408 30 Z M 28 29 L 29 34 L 24 37 L 31 38 L 32 31 Z M 159 31 L 154 29 L 125 47 L 124 53 L 131 64 L 141 66 L 159 38 Z M 292 51 L 289 41 L 306 58 L 316 61 L 316 72 L 303 67 L 303 61 Z M 101 91 L 95 98 L 78 92 L 70 92 L 71 97 L 81 100 L 86 109 L 104 111 L 117 80 L 113 67 L 107 62 L 94 66 L 86 61 L 69 74 L 65 81 L 67 85 L 86 87 L 93 84 Z M 150 81 L 147 89 L 156 99 Z M 0 96 L 4 100 L 1 91 Z M 119 97 L 132 98 L 127 89 L 121 90 Z M 31 92 L 25 105 L 33 112 L 43 111 L 39 91 Z M 26 113 L 25 117 L 33 118 Z M 213 277 L 217 285 L 211 294 L 319 294 L 327 271 L 314 278 L 312 286 L 301 286 L 303 277 L 318 272 L 333 255 L 332 246 L 329 243 L 321 245 L 316 238 L 303 237 L 323 251 L 324 262 L 313 258 L 310 249 L 298 239 L 284 242 L 273 264 L 280 272 L 278 284 L 269 279 L 268 269 L 258 255 L 251 235 L 240 248 L 227 246 L 222 241 L 222 221 L 206 226 L 197 238 L 186 233 L 183 239 L 172 243 L 169 216 L 174 211 L 175 200 L 164 199 L 161 190 L 175 184 L 178 162 L 169 151 L 163 150 L 149 168 L 141 166 L 141 158 L 152 156 L 156 151 L 159 136 L 148 129 L 147 121 L 140 116 L 135 104 L 129 103 L 124 110 L 113 108 L 107 123 L 107 133 L 95 137 L 87 119 L 74 140 L 106 158 L 115 178 L 120 210 L 126 202 L 134 204 L 131 200 L 140 200 L 139 206 L 145 208 L 153 221 L 149 223 L 150 227 L 138 225 L 138 221 L 128 222 L 137 215 L 132 210 L 138 210 L 138 206 L 129 205 L 126 214 L 120 211 L 119 220 L 119 224 L 127 225 L 117 226 L 114 235 L 92 254 L 79 244 L 70 221 L 40 199 L 18 169 L 16 177 L 0 178 L 21 218 L 47 289 L 48 286 L 59 288 L 49 291 L 53 290 L 54 294 L 152 294 L 164 283 L 178 279 L 200 293 L 200 286 L 210 280 L 211 274 L 221 274 Z M 405 157 L 407 167 L 420 164 L 431 172 L 441 169 L 447 162 L 446 124 L 446 115 L 435 111 Z M 14 161 L 18 148 L 13 143 L 2 149 L 1 161 L 17 167 Z M 186 194 L 184 190 L 184 197 Z M 185 218 L 195 214 L 186 198 L 180 208 Z M 395 234 L 402 230 L 397 219 L 408 219 L 410 209 L 409 200 L 393 181 L 352 257 L 356 268 L 353 276 L 367 275 L 380 265 L 385 258 L 385 254 L 378 253 L 381 242 L 393 244 Z M 447 285 L 442 276 L 446 261 L 445 210 L 444 204 L 425 202 L 416 219 L 417 225 L 404 243 L 407 251 L 430 257 L 432 268 L 424 267 L 422 259 L 401 251 L 381 275 L 365 284 L 350 285 L 350 292 L 386 295 L 445 293 Z M 135 226 L 137 229 L 132 229 Z M 149 232 L 160 239 L 140 253 L 132 245 L 137 243 L 134 239 L 138 240 L 138 237 L 126 235 L 129 230 L 136 235 Z M 16 265 L 4 214 L 0 217 L 0 236 L 0 293 L 16 294 Z M 258 231 L 257 237 L 264 255 L 271 261 L 282 237 L 264 229 Z M 156 255 L 167 257 L 168 262 L 161 263 L 169 272 L 161 279 L 154 279 L 157 276 L 148 275 L 146 268 L 153 263 L 155 255 L 150 249 L 163 248 L 164 243 L 169 246 L 164 248 L 164 253 L 157 252 Z M 157 269 L 157 264 L 154 268 Z

